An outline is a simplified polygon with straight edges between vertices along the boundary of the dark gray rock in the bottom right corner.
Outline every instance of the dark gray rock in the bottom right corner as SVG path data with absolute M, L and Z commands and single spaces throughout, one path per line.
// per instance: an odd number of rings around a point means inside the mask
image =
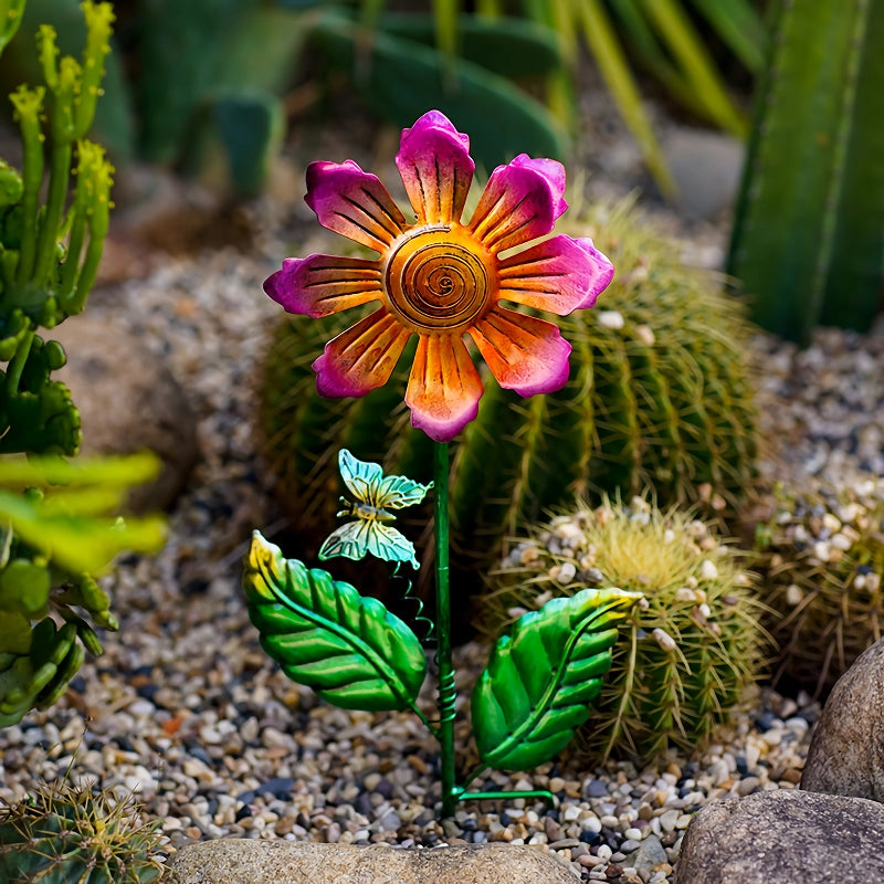
M 884 881 L 884 808 L 796 790 L 713 801 L 687 827 L 675 884 Z

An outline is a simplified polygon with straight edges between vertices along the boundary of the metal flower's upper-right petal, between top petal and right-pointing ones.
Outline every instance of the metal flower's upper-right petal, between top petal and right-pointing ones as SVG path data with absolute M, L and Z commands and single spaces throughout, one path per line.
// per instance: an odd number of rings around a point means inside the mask
M 568 208 L 565 168 L 554 159 L 519 154 L 491 175 L 470 229 L 492 252 L 543 236 Z

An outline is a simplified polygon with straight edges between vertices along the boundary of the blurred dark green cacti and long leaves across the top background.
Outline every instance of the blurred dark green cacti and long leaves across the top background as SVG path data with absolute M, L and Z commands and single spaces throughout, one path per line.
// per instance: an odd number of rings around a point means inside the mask
M 343 94 L 396 127 L 443 110 L 484 172 L 518 152 L 567 160 L 586 137 L 594 65 L 665 199 L 676 185 L 648 99 L 746 141 L 727 271 L 754 320 L 803 341 L 820 323 L 866 329 L 881 308 L 884 0 L 118 0 L 115 11 L 119 51 L 93 134 L 117 164 L 254 196 L 286 133 L 338 123 Z M 40 21 L 62 51 L 83 39 L 78 0 L 30 0 L 3 87 L 33 74 Z

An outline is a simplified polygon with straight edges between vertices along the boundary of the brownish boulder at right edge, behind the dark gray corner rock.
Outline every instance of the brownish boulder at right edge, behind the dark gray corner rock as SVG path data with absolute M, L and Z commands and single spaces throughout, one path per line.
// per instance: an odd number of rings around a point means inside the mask
M 801 788 L 884 802 L 884 639 L 839 678 L 813 730 Z

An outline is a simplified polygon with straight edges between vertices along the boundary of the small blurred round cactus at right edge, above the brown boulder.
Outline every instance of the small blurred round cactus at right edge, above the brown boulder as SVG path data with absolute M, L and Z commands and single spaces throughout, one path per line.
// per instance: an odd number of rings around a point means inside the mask
M 779 649 L 774 677 L 819 695 L 884 631 L 884 480 L 775 494 L 754 565 Z

